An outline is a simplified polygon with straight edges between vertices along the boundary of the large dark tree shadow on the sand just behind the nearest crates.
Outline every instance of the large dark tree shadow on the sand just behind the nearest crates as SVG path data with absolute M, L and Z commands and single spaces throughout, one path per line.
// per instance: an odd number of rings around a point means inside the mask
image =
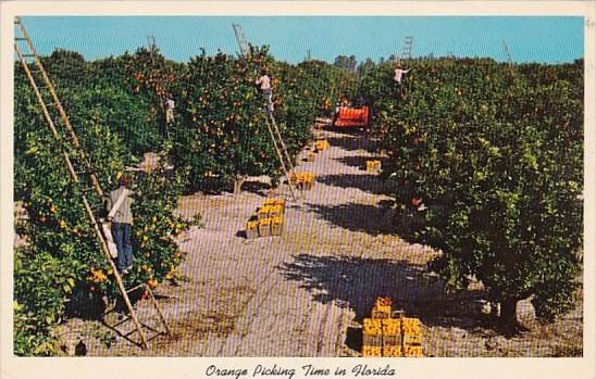
M 355 321 L 371 316 L 377 296 L 392 298 L 394 309 L 403 309 L 408 317 L 418 317 L 426 326 L 458 327 L 474 330 L 487 327 L 480 317 L 482 291 L 449 294 L 444 281 L 429 275 L 425 265 L 407 261 L 375 260 L 353 256 L 314 256 L 301 254 L 278 267 L 282 275 L 300 282 L 313 301 L 335 301 L 356 314 Z M 349 328 L 347 345 L 359 350 L 361 331 Z

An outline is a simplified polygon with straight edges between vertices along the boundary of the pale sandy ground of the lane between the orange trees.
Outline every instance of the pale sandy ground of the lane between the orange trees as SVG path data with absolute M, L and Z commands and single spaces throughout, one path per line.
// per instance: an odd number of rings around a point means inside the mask
M 533 321 L 529 302 L 519 306 L 527 327 L 506 339 L 489 328 L 482 291 L 447 294 L 426 273 L 435 254 L 400 239 L 383 206 L 390 198 L 376 175 L 363 168 L 371 153 L 360 135 L 319 131 L 331 149 L 298 172 L 316 184 L 288 202 L 281 237 L 247 240 L 246 220 L 265 199 L 264 185 L 248 181 L 239 195 L 195 194 L 181 200 L 186 217 L 200 213 L 204 228 L 191 229 L 181 247 L 188 252 L 177 286 L 158 288 L 159 303 L 174 339 L 156 336 L 139 349 L 132 323 L 71 319 L 66 340 L 83 336 L 89 355 L 151 356 L 359 356 L 361 321 L 376 296 L 390 296 L 424 325 L 426 356 L 582 355 L 581 304 L 557 324 Z M 282 188 L 280 195 L 288 195 Z M 396 233 L 397 232 L 397 233 Z M 140 318 L 162 330 L 148 302 Z M 115 327 L 114 327 L 115 326 Z M 101 340 L 115 337 L 110 348 Z

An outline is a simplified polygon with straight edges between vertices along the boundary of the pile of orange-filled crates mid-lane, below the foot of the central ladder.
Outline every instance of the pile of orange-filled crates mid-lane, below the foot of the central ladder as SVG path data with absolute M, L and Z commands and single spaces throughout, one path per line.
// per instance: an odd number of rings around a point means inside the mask
M 246 224 L 246 237 L 281 236 L 284 231 L 286 201 L 284 199 L 268 199 L 257 210 L 257 215 Z

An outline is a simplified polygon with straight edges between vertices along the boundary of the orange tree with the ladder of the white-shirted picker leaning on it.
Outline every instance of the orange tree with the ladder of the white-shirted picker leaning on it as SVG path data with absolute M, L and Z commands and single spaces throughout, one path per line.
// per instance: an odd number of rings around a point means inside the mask
M 281 175 L 269 135 L 265 100 L 254 80 L 265 70 L 272 77 L 275 118 L 291 155 L 311 138 L 318 99 L 311 76 L 275 62 L 266 48 L 251 47 L 246 58 L 204 52 L 190 60 L 175 87 L 179 121 L 174 131 L 176 166 L 189 167 L 188 189 L 216 177 L 223 188 L 251 175 Z

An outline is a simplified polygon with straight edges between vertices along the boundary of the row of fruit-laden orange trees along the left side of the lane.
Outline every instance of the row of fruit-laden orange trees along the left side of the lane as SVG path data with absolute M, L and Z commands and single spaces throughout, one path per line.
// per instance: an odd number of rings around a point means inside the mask
M 246 58 L 202 53 L 188 63 L 147 49 L 92 62 L 58 50 L 42 63 L 104 190 L 146 152 L 161 152 L 175 166 L 173 178 L 137 180 L 135 267 L 125 277 L 127 287 L 157 286 L 184 260 L 175 242 L 189 227 L 174 215 L 181 193 L 204 189 L 212 178 L 218 190 L 247 175 L 278 178 L 265 103 L 254 86 L 263 70 L 273 77 L 275 117 L 293 155 L 311 139 L 315 114 L 330 112 L 357 85 L 352 75 L 326 63 L 290 65 L 254 47 Z M 170 126 L 167 97 L 176 104 Z M 52 330 L 69 311 L 86 313 L 86 305 L 117 291 L 18 63 L 14 130 L 15 200 L 27 214 L 17 225 L 26 243 L 14 257 L 14 348 L 18 355 L 51 355 Z M 101 199 L 88 195 L 100 206 Z

